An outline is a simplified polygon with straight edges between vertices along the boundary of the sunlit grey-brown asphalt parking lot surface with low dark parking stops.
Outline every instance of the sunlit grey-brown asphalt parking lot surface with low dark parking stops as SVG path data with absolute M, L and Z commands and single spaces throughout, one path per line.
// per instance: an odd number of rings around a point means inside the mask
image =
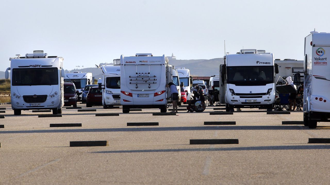
M 87 109 L 80 104 L 82 109 Z M 51 112 L 22 111 L 10 105 L 0 119 L 1 184 L 327 184 L 330 123 L 316 129 L 282 125 L 302 121 L 302 112 L 267 115 L 243 109 L 233 115 L 179 111 L 152 116 L 158 109 L 123 114 L 120 108 L 78 112 L 63 108 L 62 117 L 38 118 Z M 219 107 L 217 107 L 219 108 Z M 119 116 L 96 117 L 98 113 Z M 236 125 L 204 125 L 236 121 Z M 127 126 L 158 122 L 158 126 Z M 81 123 L 81 127 L 49 127 Z M 238 139 L 239 144 L 189 145 L 190 139 Z M 108 141 L 108 146 L 70 147 L 70 141 Z

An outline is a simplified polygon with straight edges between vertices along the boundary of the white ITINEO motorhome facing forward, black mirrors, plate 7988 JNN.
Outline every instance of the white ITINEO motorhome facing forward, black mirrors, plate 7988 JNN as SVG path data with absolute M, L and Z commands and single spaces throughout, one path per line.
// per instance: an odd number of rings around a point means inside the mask
M 264 50 L 242 49 L 237 54 L 226 54 L 220 65 L 220 103 L 226 104 L 227 112 L 243 107 L 272 111 L 277 72 L 273 54 Z

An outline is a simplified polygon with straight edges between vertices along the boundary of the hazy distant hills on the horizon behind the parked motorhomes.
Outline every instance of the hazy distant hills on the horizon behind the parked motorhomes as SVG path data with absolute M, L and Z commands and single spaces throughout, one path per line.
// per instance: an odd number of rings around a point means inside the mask
M 198 60 L 171 60 L 169 61 L 170 65 L 175 67 L 185 67 L 190 69 L 191 76 L 212 76 L 219 74 L 219 66 L 223 64 L 222 58 L 216 59 L 198 59 Z M 65 72 L 74 72 L 74 71 L 82 71 L 82 72 L 91 72 L 95 79 L 101 78 L 102 70 L 101 68 L 89 67 L 83 69 L 72 69 L 65 70 Z M 5 78 L 5 72 L 0 71 L 0 79 Z

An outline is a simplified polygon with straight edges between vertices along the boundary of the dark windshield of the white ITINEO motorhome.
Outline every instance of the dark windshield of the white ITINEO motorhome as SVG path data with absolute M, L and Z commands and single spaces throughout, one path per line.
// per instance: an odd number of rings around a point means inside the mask
M 262 86 L 274 82 L 274 66 L 227 66 L 227 83 Z

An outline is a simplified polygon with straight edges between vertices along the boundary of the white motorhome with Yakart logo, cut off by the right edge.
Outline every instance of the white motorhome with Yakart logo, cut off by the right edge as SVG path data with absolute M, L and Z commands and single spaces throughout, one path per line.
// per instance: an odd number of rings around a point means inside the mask
M 330 33 L 311 32 L 305 38 L 304 125 L 316 128 L 330 121 Z

